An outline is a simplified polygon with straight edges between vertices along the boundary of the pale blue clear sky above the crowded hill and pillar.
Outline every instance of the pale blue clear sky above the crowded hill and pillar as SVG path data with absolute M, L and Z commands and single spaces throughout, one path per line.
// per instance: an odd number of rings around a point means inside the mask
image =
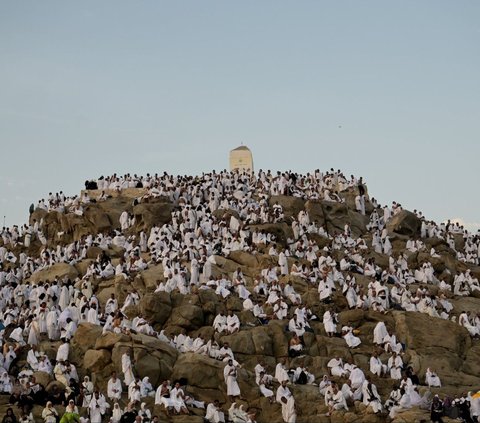
M 478 1 L 0 1 L 0 215 L 102 174 L 340 168 L 480 222 Z

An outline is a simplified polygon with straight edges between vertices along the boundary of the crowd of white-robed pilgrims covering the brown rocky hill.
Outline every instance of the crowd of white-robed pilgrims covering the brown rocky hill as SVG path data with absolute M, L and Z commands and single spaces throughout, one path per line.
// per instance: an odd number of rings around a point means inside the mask
M 162 264 L 163 277 L 159 278 L 155 292 L 178 291 L 188 294 L 198 290 L 213 290 L 222 298 L 238 296 L 243 308 L 250 310 L 258 325 L 265 325 L 272 319 L 286 320 L 286 330 L 291 332 L 289 341 L 290 358 L 307 353 L 303 342 L 306 331 L 312 332 L 312 321 L 323 322 L 328 336 L 341 336 L 349 348 L 361 344 L 358 331 L 350 325 L 339 326 L 338 314 L 333 297 L 342 292 L 350 309 L 371 309 L 382 313 L 389 310 L 406 310 L 426 313 L 441 319 L 452 319 L 464 326 L 472 337 L 480 335 L 480 314 L 462 312 L 451 314 L 453 309 L 448 298 L 452 295 L 466 296 L 480 290 L 478 280 L 470 271 L 454 275 L 453 283 L 439 280 L 428 260 L 417 269 L 408 266 L 411 252 L 424 251 L 431 257 L 439 257 L 434 248 L 427 251 L 422 239 L 436 237 L 444 239 L 464 262 L 479 264 L 480 236 L 471 234 L 454 223 L 436 224 L 422 219 L 421 237 L 409 240 L 406 249 L 393 254 L 386 224 L 402 210 L 402 206 L 380 206 L 375 199 L 369 199 L 364 182 L 351 176 L 344 177 L 340 171 L 331 169 L 326 173 L 316 170 L 306 175 L 291 172 L 260 171 L 249 173 L 208 173 L 202 176 L 124 175 L 101 177 L 86 183 L 88 189 L 100 192 L 90 198 L 89 190 L 80 196 L 66 197 L 62 192 L 50 193 L 47 199 L 38 202 L 37 208 L 62 213 L 83 214 L 84 207 L 91 202 L 109 198 L 111 192 L 121 192 L 127 188 L 143 188 L 142 196 L 134 203 L 147 202 L 150 198 L 167 197 L 174 205 L 171 222 L 161 227 L 152 227 L 149 233 L 132 235 L 129 231 L 135 225 L 135 217 L 124 211 L 118 228 L 110 233 L 88 235 L 80 241 L 69 244 L 51 240 L 47 242 L 42 232 L 43 220 L 32 220 L 22 227 L 3 228 L 0 246 L 0 316 L 5 330 L 3 353 L 0 354 L 0 393 L 10 395 L 10 403 L 17 405 L 21 416 L 9 410 L 3 420 L 6 422 L 33 421 L 31 409 L 34 404 L 45 405 L 42 417 L 45 422 L 59 420 L 55 408 L 64 405 L 62 420 L 100 423 L 110 422 L 150 422 L 156 421 L 143 401 L 154 397 L 155 404 L 163 405 L 168 413 L 190 413 L 191 407 L 205 409 L 205 418 L 212 423 L 222 421 L 254 422 L 255 412 L 244 410 L 236 405 L 241 398 L 237 382 L 237 371 L 241 364 L 227 343 L 219 345 L 216 338 L 192 339 L 179 333 L 167 337 L 164 331 L 154 330 L 146 318 L 138 315 L 129 320 L 124 311 L 138 304 L 141 293 L 131 289 L 122 303 L 115 295 L 105 304 L 92 289 L 92 278 L 108 279 L 123 277 L 130 281 L 137 272 L 149 266 Z M 270 197 L 290 195 L 307 199 L 343 202 L 342 193 L 350 190 L 356 193 L 355 208 L 366 214 L 366 202 L 373 211 L 369 216 L 368 231 L 371 241 L 356 239 L 348 225 L 343 231 L 329 233 L 325 227 L 310 219 L 308 213 L 300 211 L 297 216 L 286 218 L 278 202 L 270 202 Z M 273 204 L 272 204 L 273 203 Z M 35 209 L 35 207 L 32 207 Z M 228 217 L 216 217 L 218 210 L 230 210 Z M 285 247 L 275 236 L 257 230 L 256 224 L 287 222 L 291 225 L 293 237 Z M 309 234 L 318 234 L 329 240 L 324 248 L 312 241 Z M 59 234 L 60 237 L 61 234 Z M 456 249 L 455 235 L 465 241 L 462 250 Z M 38 239 L 42 249 L 38 257 L 26 253 L 31 242 Z M 57 244 L 55 244 L 57 242 Z M 21 248 L 17 248 L 17 247 Z M 92 246 L 103 252 L 88 267 L 86 273 L 76 280 L 55 278 L 50 281 L 32 283 L 30 276 L 56 263 L 74 265 L 86 258 Z M 124 256 L 114 265 L 107 250 L 116 246 L 124 250 Z M 372 248 L 389 256 L 388 268 L 380 268 L 373 259 L 365 259 L 364 253 Z M 21 251 L 14 253 L 14 251 Z M 251 282 L 238 268 L 231 277 L 228 274 L 214 276 L 212 265 L 218 256 L 228 257 L 232 251 L 245 251 L 255 254 L 267 252 L 276 263 L 256 275 Z M 334 257 L 337 257 L 335 259 Z M 341 259 L 338 259 L 341 257 Z M 327 305 L 322 316 L 316 316 L 311 304 L 302 302 L 293 286 L 285 282 L 285 275 L 297 276 L 308 284 L 318 287 L 318 301 Z M 357 284 L 356 275 L 369 278 L 368 285 Z M 358 278 L 358 276 L 357 276 Z M 287 279 L 288 281 L 288 279 Z M 418 288 L 412 289 L 416 284 Z M 436 285 L 439 295 L 430 293 L 428 286 Z M 169 343 L 180 352 L 194 352 L 208 355 L 225 362 L 224 378 L 226 392 L 231 400 L 228 410 L 222 409 L 218 401 L 205 404 L 195 400 L 186 391 L 185 381 L 164 381 L 160 386 L 150 384 L 148 377 L 135 377 L 135 366 L 131 358 L 122 357 L 123 377 L 112 374 L 107 392 L 99 392 L 88 376 L 79 380 L 76 368 L 69 361 L 69 341 L 74 336 L 78 324 L 89 322 L 103 327 L 103 332 L 143 333 L 155 336 Z M 219 313 L 213 322 L 217 333 L 233 334 L 242 330 L 238 316 L 231 310 Z M 8 333 L 8 336 L 6 335 Z M 375 413 L 388 413 L 395 417 L 400 411 L 413 406 L 431 407 L 432 420 L 441 421 L 442 415 L 474 421 L 480 415 L 480 399 L 475 395 L 445 398 L 430 398 L 428 393 L 419 394 L 418 387 L 441 386 L 434 369 L 428 369 L 422 381 L 415 375 L 409 363 L 403 362 L 405 345 L 383 322 L 374 330 L 375 350 L 370 359 L 369 369 L 360 369 L 353 362 L 343 362 L 340 357 L 332 357 L 328 362 L 329 375 L 315 375 L 306 367 L 289 368 L 289 360 L 280 360 L 269 374 L 265 363 L 260 361 L 255 367 L 255 380 L 261 393 L 272 403 L 281 405 L 285 422 L 296 420 L 295 399 L 289 389 L 292 383 L 317 384 L 324 397 L 328 414 L 345 409 L 354 400 L 370 405 Z M 38 348 L 41 340 L 61 340 L 55 360 L 50 361 L 44 351 Z M 24 368 L 17 369 L 15 363 L 20 351 L 28 351 Z M 379 354 L 389 354 L 382 362 Z M 12 373 L 11 369 L 15 369 Z M 19 371 L 17 371 L 19 370 Z M 65 393 L 48 393 L 45 387 L 36 382 L 34 372 L 42 371 L 52 375 L 66 386 Z M 388 398 L 382 400 L 371 375 L 391 378 L 394 388 Z M 333 379 L 331 379 L 333 377 Z M 340 385 L 340 381 L 344 383 Z M 183 384 L 182 384 L 183 383 Z M 276 393 L 274 392 L 274 387 Z M 126 406 L 121 407 L 127 397 Z M 13 417 L 12 417 L 13 416 Z M 470 420 L 469 420 L 470 419 Z M 475 420 L 476 421 L 476 420 Z

